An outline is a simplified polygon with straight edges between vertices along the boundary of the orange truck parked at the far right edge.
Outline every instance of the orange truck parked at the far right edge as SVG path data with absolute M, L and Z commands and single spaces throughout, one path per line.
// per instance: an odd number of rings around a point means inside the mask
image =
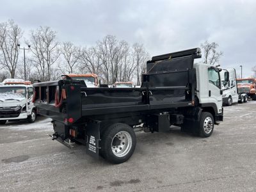
M 238 93 L 246 93 L 248 95 L 248 98 L 252 98 L 252 100 L 256 100 L 256 79 L 250 77 L 250 78 L 243 78 L 243 79 L 237 79 L 237 88 Z

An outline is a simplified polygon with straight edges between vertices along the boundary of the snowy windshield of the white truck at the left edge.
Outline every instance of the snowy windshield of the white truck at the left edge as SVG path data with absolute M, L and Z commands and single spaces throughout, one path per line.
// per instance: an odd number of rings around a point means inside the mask
M 21 86 L 0 87 L 0 97 L 4 100 L 26 97 L 26 88 Z

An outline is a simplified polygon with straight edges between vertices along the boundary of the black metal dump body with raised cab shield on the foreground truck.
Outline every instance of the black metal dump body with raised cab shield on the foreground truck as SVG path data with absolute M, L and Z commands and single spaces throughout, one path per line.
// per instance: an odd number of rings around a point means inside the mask
M 154 56 L 141 88 L 88 88 L 84 81 L 60 80 L 35 83 L 33 99 L 38 113 L 65 124 L 193 106 L 193 63 L 200 57 L 199 48 Z

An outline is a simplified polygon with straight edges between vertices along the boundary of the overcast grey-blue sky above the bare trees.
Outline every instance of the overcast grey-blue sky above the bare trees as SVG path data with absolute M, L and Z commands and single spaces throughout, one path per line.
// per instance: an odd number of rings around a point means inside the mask
M 139 42 L 151 56 L 217 42 L 222 67 L 251 76 L 256 65 L 256 1 L 0 0 L 0 22 L 50 26 L 60 41 L 93 45 L 105 35 Z

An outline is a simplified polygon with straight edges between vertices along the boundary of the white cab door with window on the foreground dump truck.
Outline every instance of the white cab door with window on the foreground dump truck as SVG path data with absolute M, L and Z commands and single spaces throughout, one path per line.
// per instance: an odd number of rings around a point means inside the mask
M 220 72 L 214 67 L 208 68 L 208 97 L 209 102 L 216 103 L 218 113 L 222 111 L 222 94 Z

